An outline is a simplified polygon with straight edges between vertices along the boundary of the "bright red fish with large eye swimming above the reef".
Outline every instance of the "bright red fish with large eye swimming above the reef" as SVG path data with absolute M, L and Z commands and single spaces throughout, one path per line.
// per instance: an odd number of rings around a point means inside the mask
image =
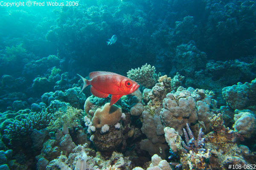
M 87 85 L 91 85 L 91 93 L 94 96 L 106 98 L 109 94 L 112 95 L 110 105 L 115 104 L 122 96 L 137 91 L 140 87 L 137 82 L 127 77 L 107 71 L 94 71 L 89 74 L 89 77 L 90 80 L 81 77 L 84 85 L 80 93 Z

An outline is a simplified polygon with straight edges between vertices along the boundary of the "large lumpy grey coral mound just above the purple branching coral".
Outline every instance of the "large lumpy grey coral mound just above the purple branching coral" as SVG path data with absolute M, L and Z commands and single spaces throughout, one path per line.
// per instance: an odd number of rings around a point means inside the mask
M 205 130 L 210 130 L 209 117 L 214 107 L 210 109 L 212 96 L 204 90 L 179 87 L 175 93 L 169 93 L 163 99 L 163 109 L 160 112 L 163 125 L 173 127 L 180 135 L 186 123 L 194 124 L 197 120 L 204 123 Z M 197 102 L 196 102 L 197 101 Z

